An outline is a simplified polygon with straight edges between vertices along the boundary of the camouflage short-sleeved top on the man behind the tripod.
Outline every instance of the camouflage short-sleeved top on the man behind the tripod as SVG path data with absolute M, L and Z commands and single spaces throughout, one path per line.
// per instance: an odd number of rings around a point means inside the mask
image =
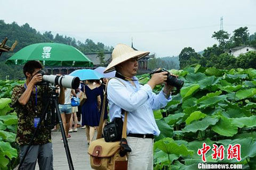
M 24 85 L 15 86 L 12 92 L 12 104 L 18 116 L 18 130 L 16 136 L 16 142 L 19 145 L 29 144 L 34 132 L 34 118 L 41 117 L 43 114 L 43 94 L 45 91 L 50 92 L 50 88 L 44 86 L 37 86 L 37 112 L 35 111 L 36 94 L 33 92 L 29 98 L 28 103 L 22 106 L 18 99 L 25 92 L 26 88 Z M 51 128 L 50 118 L 44 119 L 40 128 L 38 129 L 37 135 L 34 138 L 33 144 L 45 144 L 51 142 Z

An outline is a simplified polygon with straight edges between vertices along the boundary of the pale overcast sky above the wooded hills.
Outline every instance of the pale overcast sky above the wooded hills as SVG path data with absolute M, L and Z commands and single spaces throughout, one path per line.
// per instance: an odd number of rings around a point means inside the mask
M 82 42 L 90 38 L 109 46 L 131 45 L 133 37 L 135 48 L 157 57 L 218 43 L 211 36 L 220 29 L 222 16 L 229 34 L 244 26 L 250 34 L 256 32 L 255 0 L 0 0 L 0 6 L 5 23 L 27 22 L 41 33 L 52 31 Z

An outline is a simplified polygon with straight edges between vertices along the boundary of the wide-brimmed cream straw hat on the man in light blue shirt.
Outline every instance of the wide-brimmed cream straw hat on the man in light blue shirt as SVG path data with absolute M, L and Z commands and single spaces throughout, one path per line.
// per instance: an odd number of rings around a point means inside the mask
M 140 60 L 144 56 L 148 55 L 149 52 L 135 51 L 132 47 L 125 44 L 117 44 L 112 52 L 112 61 L 108 64 L 104 73 L 115 70 L 115 66 L 119 63 L 137 57 Z

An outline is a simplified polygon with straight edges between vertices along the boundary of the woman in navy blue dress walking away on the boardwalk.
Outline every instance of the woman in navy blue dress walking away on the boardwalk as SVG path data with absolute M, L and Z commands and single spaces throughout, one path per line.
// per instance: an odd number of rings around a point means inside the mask
M 87 99 L 82 106 L 82 126 L 89 126 L 90 141 L 92 142 L 95 128 L 99 126 L 100 123 L 100 92 L 97 86 L 93 84 L 94 80 L 88 80 L 88 84 L 81 88 L 82 92 L 85 92 Z

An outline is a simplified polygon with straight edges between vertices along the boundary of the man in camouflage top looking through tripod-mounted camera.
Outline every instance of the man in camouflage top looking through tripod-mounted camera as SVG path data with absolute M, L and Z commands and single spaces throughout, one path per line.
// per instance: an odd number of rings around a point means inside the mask
M 38 61 L 28 61 L 23 67 L 26 77 L 24 85 L 15 86 L 12 92 L 12 104 L 18 116 L 18 131 L 16 142 L 20 145 L 20 160 L 25 154 L 28 144 L 35 132 L 36 119 L 43 114 L 43 94 L 45 91 L 50 93 L 47 86 L 36 86 L 42 81 L 42 75 L 37 74 L 42 70 L 42 64 Z M 61 87 L 59 103 L 64 103 L 65 94 Z M 44 126 L 47 120 L 43 120 L 37 135 L 34 138 L 28 154 L 23 162 L 21 169 L 35 169 L 36 161 L 40 169 L 53 169 L 51 128 Z

